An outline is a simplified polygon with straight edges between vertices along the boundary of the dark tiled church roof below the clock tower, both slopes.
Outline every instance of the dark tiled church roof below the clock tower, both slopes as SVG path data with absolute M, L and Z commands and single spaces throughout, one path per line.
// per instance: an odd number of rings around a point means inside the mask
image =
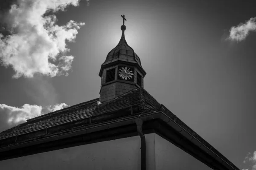
M 232 162 L 218 152 L 211 144 L 205 141 L 195 131 L 182 122 L 175 114 L 165 106 L 160 105 L 154 97 L 143 88 L 128 91 L 108 102 L 99 103 L 99 98 L 73 105 L 59 111 L 29 119 L 26 123 L 12 127 L 0 133 L 0 148 L 30 142 L 36 139 L 44 139 L 49 136 L 58 136 L 64 133 L 75 132 L 99 123 L 107 119 L 122 119 L 124 115 L 150 114 L 153 111 L 162 111 L 177 125 L 198 140 L 201 144 L 219 156 L 233 169 L 239 170 Z M 127 114 L 129 112 L 129 114 Z M 105 120 L 102 119 L 102 116 Z M 101 119 L 99 119 L 101 117 Z

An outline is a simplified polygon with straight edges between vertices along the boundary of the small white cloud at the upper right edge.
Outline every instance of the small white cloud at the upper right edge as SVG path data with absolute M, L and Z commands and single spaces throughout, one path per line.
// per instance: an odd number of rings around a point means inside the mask
M 256 31 L 256 17 L 250 18 L 246 23 L 240 23 L 238 26 L 230 28 L 229 40 L 242 41 L 251 31 Z

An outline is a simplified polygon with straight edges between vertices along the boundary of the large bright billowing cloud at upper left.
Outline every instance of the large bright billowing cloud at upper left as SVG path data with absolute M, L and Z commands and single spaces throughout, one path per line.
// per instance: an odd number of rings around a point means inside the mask
M 73 42 L 84 25 L 56 24 L 54 13 L 69 5 L 78 6 L 79 0 L 17 0 L 11 6 L 4 15 L 10 35 L 0 33 L 0 63 L 13 68 L 13 77 L 68 75 L 74 57 L 65 55 L 66 42 Z

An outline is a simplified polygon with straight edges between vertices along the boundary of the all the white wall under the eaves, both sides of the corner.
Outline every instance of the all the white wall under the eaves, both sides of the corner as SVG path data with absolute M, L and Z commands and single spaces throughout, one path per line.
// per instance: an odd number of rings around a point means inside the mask
M 211 170 L 155 133 L 145 135 L 147 170 Z M 0 161 L 0 170 L 140 170 L 140 136 Z

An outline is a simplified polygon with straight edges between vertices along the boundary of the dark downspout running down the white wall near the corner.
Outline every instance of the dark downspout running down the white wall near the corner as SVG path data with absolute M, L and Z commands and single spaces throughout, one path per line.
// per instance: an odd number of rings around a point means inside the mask
M 136 119 L 135 122 L 137 125 L 138 134 L 140 135 L 141 139 L 141 170 L 146 170 L 146 139 L 145 135 L 142 132 L 143 120 Z

